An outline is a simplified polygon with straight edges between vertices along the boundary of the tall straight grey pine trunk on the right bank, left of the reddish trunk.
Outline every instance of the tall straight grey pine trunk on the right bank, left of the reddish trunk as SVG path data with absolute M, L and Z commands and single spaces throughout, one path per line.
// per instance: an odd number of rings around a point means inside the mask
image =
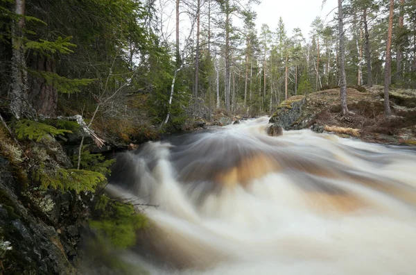
M 348 115 L 347 107 L 347 81 L 345 76 L 345 33 L 343 22 L 343 0 L 338 0 L 338 28 L 340 33 L 340 103 L 341 114 Z

